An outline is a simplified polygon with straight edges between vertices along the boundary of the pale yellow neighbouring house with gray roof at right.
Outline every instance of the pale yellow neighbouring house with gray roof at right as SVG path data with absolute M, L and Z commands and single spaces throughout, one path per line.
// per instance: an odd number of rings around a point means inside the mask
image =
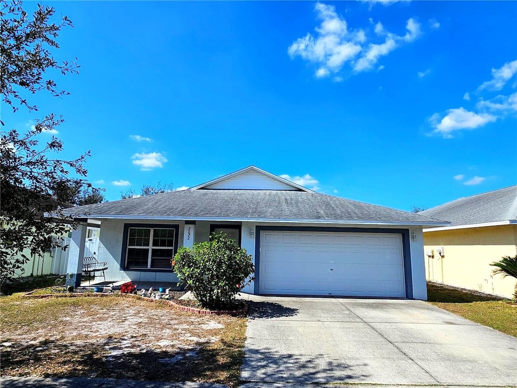
M 490 264 L 517 254 L 517 185 L 460 198 L 418 213 L 450 226 L 424 226 L 427 279 L 511 297 L 515 279 Z

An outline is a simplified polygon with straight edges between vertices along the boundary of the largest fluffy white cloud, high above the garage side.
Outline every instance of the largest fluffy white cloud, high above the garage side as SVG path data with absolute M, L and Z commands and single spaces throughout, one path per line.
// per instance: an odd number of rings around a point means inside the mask
M 305 61 L 316 64 L 316 78 L 325 78 L 339 72 L 346 63 L 356 72 L 371 70 L 378 59 L 398 47 L 398 41 L 412 42 L 420 35 L 420 24 L 414 19 L 406 22 L 406 34 L 397 36 L 387 32 L 381 22 L 375 25 L 377 35 L 386 35 L 383 43 L 370 42 L 362 28 L 352 31 L 346 20 L 336 12 L 336 7 L 316 3 L 314 10 L 321 24 L 315 33 L 307 33 L 298 38 L 287 49 L 291 58 L 300 56 Z M 370 20 L 373 24 L 373 19 Z M 356 59 L 359 57 L 359 59 Z

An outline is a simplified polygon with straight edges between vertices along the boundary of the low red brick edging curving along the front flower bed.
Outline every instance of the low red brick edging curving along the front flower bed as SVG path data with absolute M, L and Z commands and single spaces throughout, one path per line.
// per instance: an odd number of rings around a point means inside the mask
M 248 314 L 248 303 L 245 302 L 245 305 L 243 308 L 239 310 L 204 310 L 201 308 L 196 307 L 189 307 L 184 306 L 178 303 L 175 303 L 173 301 L 169 301 L 166 299 L 153 299 L 148 297 L 143 297 L 141 295 L 135 295 L 135 294 L 106 294 L 102 292 L 72 292 L 72 293 L 63 293 L 63 294 L 41 294 L 41 295 L 33 295 L 34 292 L 38 290 L 34 290 L 31 292 L 27 292 L 22 295 L 22 297 L 27 299 L 43 299 L 48 297 L 77 297 L 77 296 L 94 296 L 94 297 L 102 297 L 102 296 L 123 296 L 123 297 L 136 297 L 142 300 L 146 300 L 147 302 L 165 302 L 169 305 L 171 305 L 174 308 L 177 308 L 181 311 L 191 312 L 193 314 L 199 314 L 199 315 L 230 315 L 233 317 L 241 317 L 246 316 Z

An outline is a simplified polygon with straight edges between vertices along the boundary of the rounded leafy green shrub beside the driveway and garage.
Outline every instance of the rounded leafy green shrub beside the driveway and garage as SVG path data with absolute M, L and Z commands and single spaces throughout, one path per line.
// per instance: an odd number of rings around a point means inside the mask
M 182 247 L 174 257 L 174 271 L 205 308 L 224 308 L 254 279 L 251 255 L 224 233 L 209 242 Z

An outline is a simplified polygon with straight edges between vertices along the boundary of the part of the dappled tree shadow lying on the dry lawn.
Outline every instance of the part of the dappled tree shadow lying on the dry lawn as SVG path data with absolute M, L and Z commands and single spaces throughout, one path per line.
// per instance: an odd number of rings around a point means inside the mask
M 105 345 L 121 351 L 109 354 Z M 244 352 L 235 350 L 232 344 L 223 342 L 222 345 L 200 344 L 196 348 L 174 351 L 147 349 L 124 352 L 127 345 L 117 337 L 107 338 L 101 344 L 85 342 L 80 345 L 50 339 L 36 344 L 12 341 L 8 347 L 2 347 L 1 372 L 3 376 L 207 381 L 235 385 Z

